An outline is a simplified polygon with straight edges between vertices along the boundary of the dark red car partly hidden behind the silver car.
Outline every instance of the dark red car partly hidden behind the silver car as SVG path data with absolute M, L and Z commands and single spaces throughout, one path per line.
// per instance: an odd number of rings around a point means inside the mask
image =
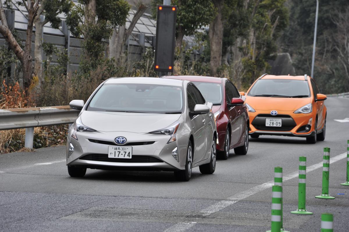
M 166 76 L 193 82 L 208 102 L 213 103 L 217 125 L 217 151 L 222 159 L 234 148 L 237 155 L 246 155 L 250 122 L 244 100 L 227 78 L 208 76 Z M 228 145 L 229 144 L 229 145 Z

